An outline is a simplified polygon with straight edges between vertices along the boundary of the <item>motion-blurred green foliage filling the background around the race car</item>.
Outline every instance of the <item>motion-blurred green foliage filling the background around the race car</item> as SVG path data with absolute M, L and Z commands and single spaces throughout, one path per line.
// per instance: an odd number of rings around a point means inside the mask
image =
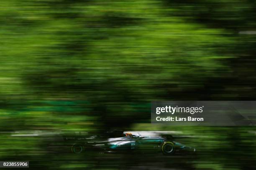
M 2 0 L 0 160 L 47 158 L 41 140 L 14 140 L 15 131 L 172 130 L 148 123 L 152 100 L 254 100 L 255 35 L 241 32 L 255 30 L 255 8 L 251 0 Z M 177 128 L 206 132 L 205 151 L 225 150 L 186 168 L 253 167 L 253 129 Z

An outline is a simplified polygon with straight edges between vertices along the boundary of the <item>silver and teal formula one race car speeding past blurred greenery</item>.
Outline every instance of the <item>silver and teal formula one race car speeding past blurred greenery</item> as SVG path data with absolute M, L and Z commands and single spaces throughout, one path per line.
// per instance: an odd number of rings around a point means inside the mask
M 67 138 L 66 140 L 69 139 Z M 160 151 L 164 155 L 195 153 L 196 151 L 195 148 L 177 143 L 172 138 L 141 136 L 139 133 L 133 135 L 117 130 L 107 132 L 105 135 L 77 138 L 71 146 L 71 150 L 76 154 L 89 150 L 98 150 L 101 153 Z

